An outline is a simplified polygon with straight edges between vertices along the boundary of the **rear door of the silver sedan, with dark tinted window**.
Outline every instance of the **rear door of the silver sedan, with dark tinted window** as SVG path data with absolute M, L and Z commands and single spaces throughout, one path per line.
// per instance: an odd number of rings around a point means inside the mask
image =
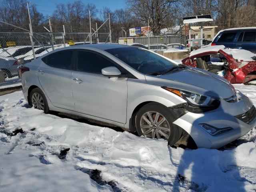
M 68 110 L 74 110 L 71 88 L 73 53 L 73 50 L 54 52 L 42 58 L 43 62 L 36 71 L 39 82 L 51 103 Z

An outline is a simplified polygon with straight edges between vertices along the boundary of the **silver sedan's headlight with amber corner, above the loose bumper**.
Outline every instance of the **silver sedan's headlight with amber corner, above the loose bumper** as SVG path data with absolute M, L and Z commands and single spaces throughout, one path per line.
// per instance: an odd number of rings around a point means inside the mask
M 220 105 L 219 99 L 212 98 L 210 96 L 193 93 L 189 91 L 184 91 L 184 90 L 173 89 L 169 87 L 162 87 L 162 88 L 186 100 L 188 102 L 188 106 L 186 106 L 185 108 L 190 112 L 194 112 L 194 113 L 207 112 L 207 111 L 218 108 L 218 106 Z

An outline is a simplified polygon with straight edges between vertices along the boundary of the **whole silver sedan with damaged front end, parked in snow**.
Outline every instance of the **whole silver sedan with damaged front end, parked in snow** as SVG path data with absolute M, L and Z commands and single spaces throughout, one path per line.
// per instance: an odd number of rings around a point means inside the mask
M 54 50 L 20 68 L 36 109 L 100 120 L 175 144 L 219 148 L 256 126 L 252 102 L 222 77 L 126 45 Z M 78 133 L 79 134 L 79 133 Z

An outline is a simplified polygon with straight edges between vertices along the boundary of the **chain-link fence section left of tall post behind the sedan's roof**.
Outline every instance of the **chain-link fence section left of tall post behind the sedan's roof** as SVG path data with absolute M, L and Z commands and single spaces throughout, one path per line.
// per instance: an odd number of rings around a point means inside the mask
M 109 43 L 109 37 L 109 33 L 95 33 L 91 41 Z M 0 86 L 20 82 L 18 68 L 34 58 L 80 44 L 90 44 L 90 33 L 33 33 L 31 42 L 30 32 L 0 32 Z

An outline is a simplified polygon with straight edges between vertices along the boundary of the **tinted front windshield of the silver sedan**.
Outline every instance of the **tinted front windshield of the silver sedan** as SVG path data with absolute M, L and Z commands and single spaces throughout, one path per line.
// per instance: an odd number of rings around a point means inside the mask
M 143 74 L 164 74 L 178 66 L 158 54 L 136 47 L 114 48 L 106 52 Z

